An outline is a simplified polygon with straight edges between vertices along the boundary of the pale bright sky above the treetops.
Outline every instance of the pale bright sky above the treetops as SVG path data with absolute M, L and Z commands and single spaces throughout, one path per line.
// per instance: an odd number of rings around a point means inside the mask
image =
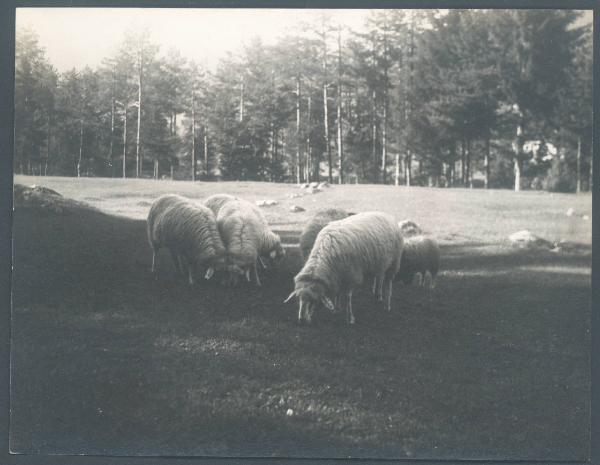
M 336 20 L 361 28 L 369 10 L 329 10 Z M 50 62 L 59 70 L 96 67 L 121 42 L 125 31 L 147 27 L 161 52 L 182 55 L 213 67 L 227 51 L 252 37 L 274 43 L 302 21 L 315 21 L 319 10 L 290 9 L 151 9 L 18 8 L 17 28 L 40 37 Z

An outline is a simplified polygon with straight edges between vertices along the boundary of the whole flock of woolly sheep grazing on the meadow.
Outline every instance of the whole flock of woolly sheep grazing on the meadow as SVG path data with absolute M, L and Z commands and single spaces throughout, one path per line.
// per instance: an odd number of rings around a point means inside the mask
M 285 256 L 281 239 L 254 204 L 228 194 L 216 194 L 203 204 L 179 195 L 158 198 L 148 213 L 152 272 L 156 254 L 170 250 L 178 273 L 194 283 L 196 270 L 210 279 L 223 272 L 230 285 L 240 279 L 261 285 L 258 264 L 275 266 Z M 394 281 L 433 287 L 439 269 L 437 242 L 412 221 L 401 223 L 386 213 L 349 213 L 330 208 L 318 211 L 300 235 L 304 266 L 294 278 L 293 297 L 299 301 L 298 320 L 310 323 L 319 307 L 346 311 L 355 322 L 352 293 L 373 280 L 373 294 L 391 310 Z

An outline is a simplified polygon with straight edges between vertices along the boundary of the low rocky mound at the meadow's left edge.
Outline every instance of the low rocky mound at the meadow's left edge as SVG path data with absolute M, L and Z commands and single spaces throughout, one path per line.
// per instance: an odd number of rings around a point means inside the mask
M 13 190 L 14 208 L 38 208 L 53 213 L 69 213 L 96 208 L 85 202 L 63 197 L 55 190 L 42 186 L 15 184 Z

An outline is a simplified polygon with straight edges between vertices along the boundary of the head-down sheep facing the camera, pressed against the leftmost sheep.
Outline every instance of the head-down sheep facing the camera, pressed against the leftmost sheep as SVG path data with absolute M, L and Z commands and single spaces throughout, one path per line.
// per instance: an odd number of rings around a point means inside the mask
M 256 262 L 260 255 L 264 226 L 254 206 L 244 200 L 231 200 L 217 215 L 219 232 L 227 249 L 227 270 L 230 283 L 236 284 L 240 275 L 250 280 L 254 272 L 256 283 L 260 279 Z

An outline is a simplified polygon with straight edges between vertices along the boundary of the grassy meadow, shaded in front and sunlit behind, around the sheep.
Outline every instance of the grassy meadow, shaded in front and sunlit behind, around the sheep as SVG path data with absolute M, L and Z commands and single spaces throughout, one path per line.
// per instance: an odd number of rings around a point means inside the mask
M 300 189 L 282 184 L 15 182 L 109 214 L 15 210 L 14 452 L 588 457 L 590 196 L 359 185 L 291 199 Z M 166 192 L 278 200 L 265 213 L 288 258 L 261 288 L 192 289 L 165 252 L 154 281 L 143 219 Z M 365 289 L 356 325 L 297 325 L 282 302 L 298 232 L 332 205 L 421 224 L 442 244 L 437 287 L 398 286 L 392 314 Z M 571 247 L 513 249 L 506 237 L 520 229 Z

